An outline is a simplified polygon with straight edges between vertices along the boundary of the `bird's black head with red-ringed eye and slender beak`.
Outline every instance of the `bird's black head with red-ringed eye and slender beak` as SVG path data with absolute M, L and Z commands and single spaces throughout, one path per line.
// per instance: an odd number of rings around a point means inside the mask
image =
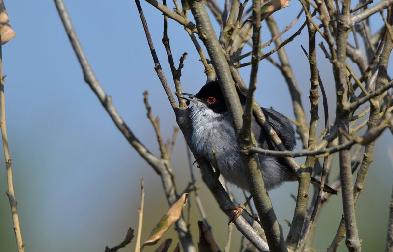
M 203 102 L 208 108 L 213 110 L 215 113 L 225 113 L 228 109 L 226 107 L 225 98 L 218 80 L 206 83 L 196 95 L 190 95 L 184 93 L 184 95 L 189 95 L 196 98 L 197 101 Z M 238 92 L 240 102 L 242 105 L 245 103 L 244 95 Z M 190 101 L 196 101 L 188 99 Z

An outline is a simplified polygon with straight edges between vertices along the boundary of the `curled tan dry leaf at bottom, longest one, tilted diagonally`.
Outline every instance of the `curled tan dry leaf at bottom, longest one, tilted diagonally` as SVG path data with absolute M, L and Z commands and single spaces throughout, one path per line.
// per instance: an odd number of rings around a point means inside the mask
M 144 241 L 141 250 L 144 246 L 156 244 L 169 227 L 180 218 L 181 211 L 187 203 L 187 199 L 188 193 L 183 193 L 179 200 L 177 200 L 176 203 L 169 208 L 168 212 L 161 217 L 160 221 L 158 221 L 153 230 L 151 230 L 149 236 Z

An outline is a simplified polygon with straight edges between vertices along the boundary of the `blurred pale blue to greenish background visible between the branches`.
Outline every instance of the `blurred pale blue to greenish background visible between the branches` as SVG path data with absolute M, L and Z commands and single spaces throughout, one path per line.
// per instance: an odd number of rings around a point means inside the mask
M 26 252 L 103 251 L 105 245 L 118 244 L 128 227 L 137 227 L 141 177 L 144 177 L 146 186 L 144 239 L 168 206 L 158 176 L 130 147 L 84 83 L 55 4 L 52 1 L 5 3 L 16 32 L 16 38 L 3 46 L 3 61 L 7 75 L 8 136 Z M 153 153 L 158 154 L 153 129 L 145 115 L 143 91 L 150 93 L 150 104 L 154 115 L 161 118 L 165 138 L 171 137 L 176 123 L 154 71 L 134 1 L 67 0 L 65 4 L 103 88 L 112 95 L 114 104 L 133 132 Z M 161 43 L 162 15 L 147 3 L 142 1 L 141 4 L 158 57 L 171 83 Z M 300 8 L 299 2 L 292 1 L 290 7 L 274 15 L 280 30 L 291 22 Z M 284 38 L 303 21 L 302 16 Z M 379 15 L 376 15 L 372 22 L 373 31 L 380 24 Z M 205 82 L 196 50 L 177 23 L 169 21 L 168 31 L 176 63 L 183 52 L 188 53 L 182 72 L 183 90 L 195 93 Z M 270 38 L 265 24 L 262 34 L 264 41 Z M 307 47 L 306 29 L 286 49 L 308 113 L 309 65 L 300 44 Z M 266 48 L 266 51 L 272 48 Z M 333 120 L 335 91 L 331 65 L 319 48 L 318 65 Z M 247 81 L 249 68 L 241 73 Z M 391 66 L 389 74 L 392 76 Z M 263 61 L 258 80 L 256 99 L 263 106 L 272 106 L 293 118 L 289 92 L 281 73 Z M 321 118 L 322 115 L 320 109 Z M 184 147 L 184 140 L 179 135 L 173 157 L 179 191 L 189 180 Z M 392 185 L 388 148 L 392 148 L 392 137 L 385 133 L 378 140 L 374 162 L 357 205 L 364 251 L 382 251 L 385 246 Z M 337 174 L 337 159 L 333 174 Z M 0 167 L 0 251 L 10 252 L 16 251 L 16 246 L 5 195 L 7 185 L 2 155 Z M 224 248 L 227 217 L 200 181 L 196 167 L 195 171 L 213 233 L 220 247 Z M 296 194 L 296 188 L 295 183 L 287 183 L 270 193 L 285 234 L 288 227 L 283 219 L 292 219 L 295 204 L 290 194 Z M 238 199 L 243 200 L 240 196 Z M 195 206 L 193 200 L 192 197 L 191 204 Z M 341 198 L 332 197 L 318 222 L 314 243 L 318 250 L 326 250 L 331 242 L 341 213 Z M 199 219 L 198 212 L 193 210 L 191 228 L 195 241 Z M 173 229 L 165 237 L 172 237 L 177 243 Z M 235 231 L 233 251 L 238 250 L 239 241 L 239 233 Z M 133 251 L 134 244 L 123 251 Z

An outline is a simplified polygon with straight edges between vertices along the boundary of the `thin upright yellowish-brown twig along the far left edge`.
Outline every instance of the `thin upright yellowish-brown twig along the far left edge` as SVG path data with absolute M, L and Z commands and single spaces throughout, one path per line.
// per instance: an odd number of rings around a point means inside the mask
M 0 40 L 1 40 L 0 34 Z M 2 59 L 2 46 L 0 45 L 0 129 L 1 136 L 3 140 L 3 148 L 4 148 L 4 158 L 5 158 L 5 169 L 7 171 L 7 196 L 9 199 L 9 204 L 11 206 L 11 214 L 12 214 L 12 222 L 14 225 L 14 233 L 16 239 L 16 246 L 18 252 L 25 251 L 25 244 L 22 241 L 21 235 L 21 227 L 19 225 L 19 216 L 17 211 L 18 201 L 15 199 L 15 191 L 14 191 L 14 181 L 12 178 L 12 161 L 8 148 L 8 136 L 7 136 L 7 125 L 5 123 L 5 94 L 4 94 L 4 78 L 3 75 L 3 59 Z

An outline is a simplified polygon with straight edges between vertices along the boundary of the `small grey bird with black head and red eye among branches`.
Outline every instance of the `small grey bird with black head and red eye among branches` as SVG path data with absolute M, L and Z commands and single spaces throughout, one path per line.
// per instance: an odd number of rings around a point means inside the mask
M 183 93 L 184 99 L 193 102 L 190 119 L 192 124 L 191 143 L 197 153 L 206 158 L 225 180 L 241 189 L 250 191 L 246 170 L 240 157 L 240 149 L 232 116 L 228 111 L 219 81 L 215 80 L 204 85 L 196 95 Z M 246 97 L 238 92 L 240 102 L 244 106 Z M 296 145 L 295 131 L 287 117 L 281 113 L 262 108 L 267 121 L 277 132 L 287 150 L 293 150 Z M 276 150 L 268 134 L 252 118 L 251 130 L 258 142 L 258 147 Z M 213 153 L 213 150 L 215 153 Z M 271 190 L 279 187 L 285 181 L 296 181 L 297 177 L 284 158 L 258 155 L 262 169 L 265 188 Z M 311 179 L 314 184 L 320 183 Z M 325 191 L 337 192 L 325 186 Z

